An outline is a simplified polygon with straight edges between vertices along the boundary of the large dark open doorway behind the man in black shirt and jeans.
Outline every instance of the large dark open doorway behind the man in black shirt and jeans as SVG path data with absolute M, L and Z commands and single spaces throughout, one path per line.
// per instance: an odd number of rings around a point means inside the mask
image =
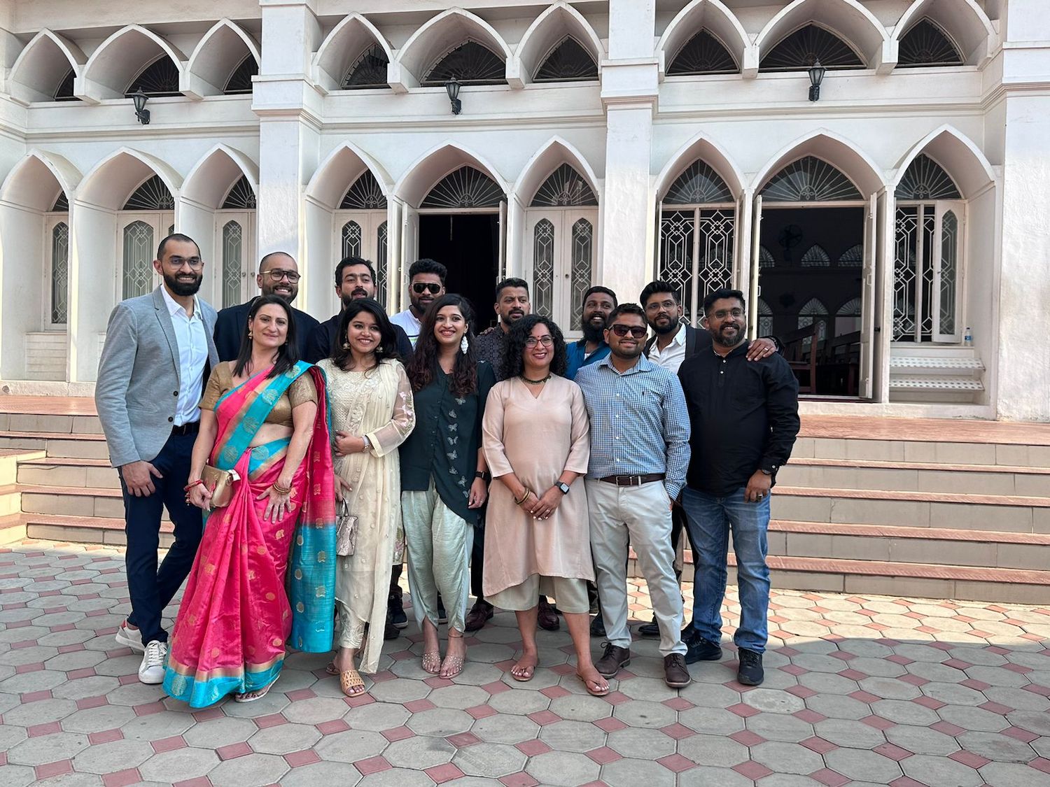
M 863 208 L 762 210 L 758 335 L 772 333 L 799 392 L 857 397 L 863 299 Z

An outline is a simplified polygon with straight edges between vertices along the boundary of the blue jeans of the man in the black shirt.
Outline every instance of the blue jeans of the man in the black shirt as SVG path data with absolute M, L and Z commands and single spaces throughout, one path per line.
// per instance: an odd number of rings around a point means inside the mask
M 681 506 L 693 543 L 693 628 L 709 642 L 721 640 L 721 604 L 726 597 L 726 557 L 733 532 L 736 579 L 740 594 L 740 625 L 733 636 L 737 647 L 765 652 L 769 639 L 770 569 L 765 531 L 770 525 L 770 497 L 759 503 L 743 498 L 744 487 L 724 497 L 686 487 Z

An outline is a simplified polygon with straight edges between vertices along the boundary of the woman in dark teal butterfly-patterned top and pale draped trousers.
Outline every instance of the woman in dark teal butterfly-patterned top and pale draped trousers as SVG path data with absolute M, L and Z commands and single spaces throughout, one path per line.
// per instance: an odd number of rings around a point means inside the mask
M 478 361 L 466 299 L 444 295 L 423 317 L 408 379 L 418 426 L 401 449 L 401 510 L 408 587 L 423 632 L 423 669 L 450 678 L 463 669 L 469 559 L 478 509 L 488 495 L 481 420 L 496 382 Z M 448 613 L 448 651 L 438 641 L 438 594 Z

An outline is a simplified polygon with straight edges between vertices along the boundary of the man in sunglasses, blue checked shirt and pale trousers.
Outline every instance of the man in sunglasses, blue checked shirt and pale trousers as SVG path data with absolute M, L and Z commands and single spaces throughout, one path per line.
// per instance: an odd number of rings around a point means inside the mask
M 681 641 L 682 603 L 671 549 L 671 503 L 686 483 L 689 413 L 681 385 L 643 355 L 648 324 L 635 303 L 616 306 L 606 323 L 609 356 L 580 369 L 590 416 L 585 482 L 591 552 L 609 641 L 594 664 L 606 678 L 631 661 L 627 626 L 627 545 L 649 583 L 659 625 L 664 679 L 689 685 Z

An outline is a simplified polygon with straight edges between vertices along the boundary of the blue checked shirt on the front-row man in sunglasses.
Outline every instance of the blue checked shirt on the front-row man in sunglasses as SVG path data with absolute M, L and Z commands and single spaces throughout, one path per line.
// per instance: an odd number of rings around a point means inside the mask
M 591 425 L 588 478 L 664 473 L 675 499 L 689 467 L 689 411 L 678 378 L 645 356 L 620 373 L 610 358 L 576 373 Z

